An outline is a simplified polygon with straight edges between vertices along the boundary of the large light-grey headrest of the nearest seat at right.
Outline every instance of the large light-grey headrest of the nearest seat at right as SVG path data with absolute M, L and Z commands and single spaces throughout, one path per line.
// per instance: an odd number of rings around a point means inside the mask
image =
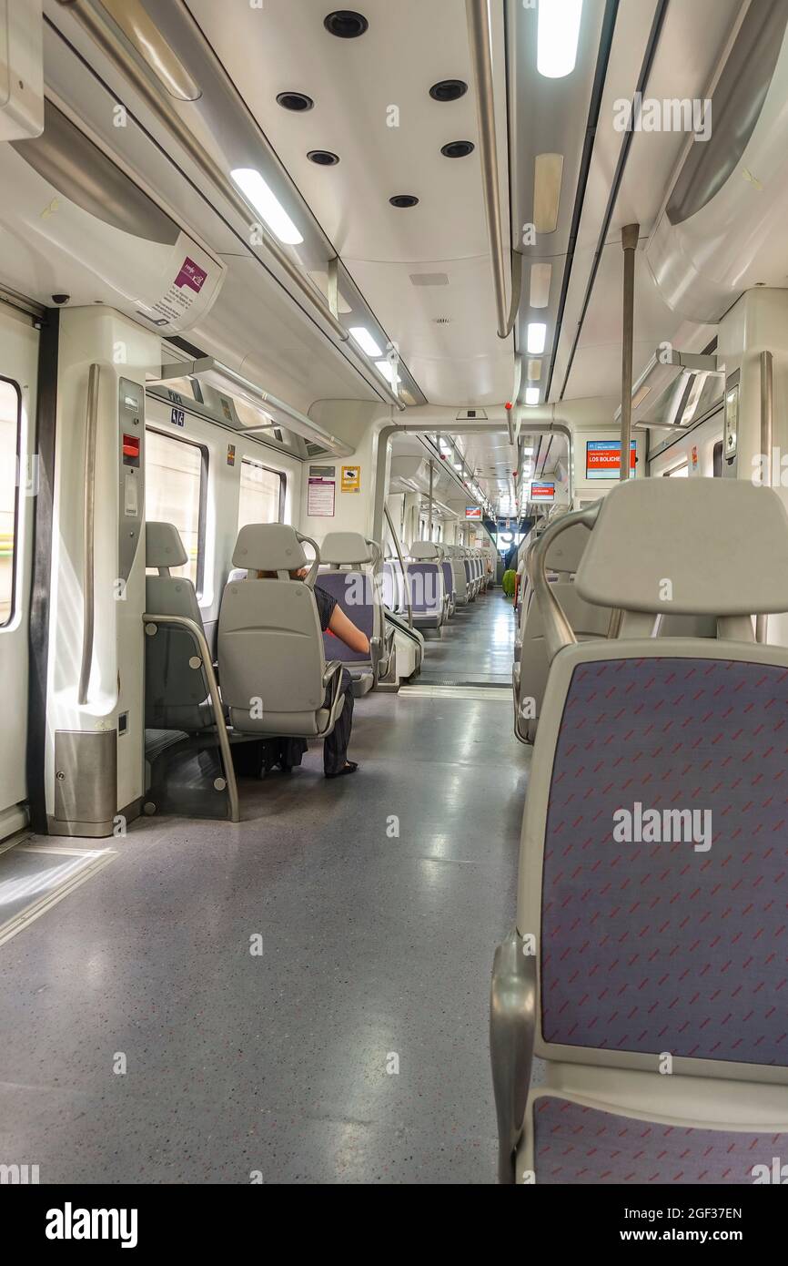
M 601 503 L 576 585 L 627 611 L 788 611 L 788 514 L 744 480 L 630 480 Z

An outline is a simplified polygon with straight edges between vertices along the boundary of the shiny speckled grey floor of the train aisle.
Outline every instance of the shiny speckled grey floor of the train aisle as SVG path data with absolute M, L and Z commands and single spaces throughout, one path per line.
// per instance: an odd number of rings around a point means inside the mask
M 511 636 L 492 591 L 425 670 L 495 681 Z M 526 779 L 501 696 L 368 696 L 354 777 L 312 749 L 242 785 L 238 827 L 113 842 L 0 948 L 0 1161 L 42 1182 L 495 1181 L 487 994 Z

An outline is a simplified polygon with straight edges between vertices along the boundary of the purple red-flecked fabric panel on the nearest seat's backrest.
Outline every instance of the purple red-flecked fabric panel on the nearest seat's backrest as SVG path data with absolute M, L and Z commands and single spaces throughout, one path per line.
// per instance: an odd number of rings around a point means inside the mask
M 787 757 L 783 667 L 574 670 L 545 833 L 546 1042 L 788 1065 Z M 636 804 L 710 810 L 711 847 L 616 842 Z

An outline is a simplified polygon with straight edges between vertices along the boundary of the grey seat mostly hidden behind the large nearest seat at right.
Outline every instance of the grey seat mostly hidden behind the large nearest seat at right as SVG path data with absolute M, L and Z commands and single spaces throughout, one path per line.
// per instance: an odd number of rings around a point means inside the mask
M 584 601 L 573 581 L 588 539 L 588 528 L 582 523 L 574 524 L 569 530 L 557 537 L 548 551 L 545 563 L 550 572 L 553 596 L 560 604 L 578 642 L 606 638 L 612 614 L 607 606 L 596 606 Z M 515 663 L 512 665 L 515 734 L 524 743 L 533 743 L 536 736 L 549 668 L 550 661 L 545 646 L 541 608 L 531 591 L 524 599 L 520 632 L 515 638 Z

